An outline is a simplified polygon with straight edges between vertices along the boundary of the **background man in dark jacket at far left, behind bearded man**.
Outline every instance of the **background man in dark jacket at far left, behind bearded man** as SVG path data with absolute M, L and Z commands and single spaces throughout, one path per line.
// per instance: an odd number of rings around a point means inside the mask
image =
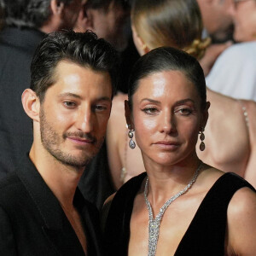
M 0 0 L 0 179 L 32 143 L 32 125 L 20 96 L 30 83 L 30 63 L 45 33 L 73 27 L 83 0 Z

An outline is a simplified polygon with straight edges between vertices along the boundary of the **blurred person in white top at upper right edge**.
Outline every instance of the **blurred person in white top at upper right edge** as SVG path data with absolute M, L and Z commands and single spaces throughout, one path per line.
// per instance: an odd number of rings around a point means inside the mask
M 227 96 L 256 101 L 256 0 L 226 0 L 234 20 L 234 44 L 219 56 L 207 84 Z

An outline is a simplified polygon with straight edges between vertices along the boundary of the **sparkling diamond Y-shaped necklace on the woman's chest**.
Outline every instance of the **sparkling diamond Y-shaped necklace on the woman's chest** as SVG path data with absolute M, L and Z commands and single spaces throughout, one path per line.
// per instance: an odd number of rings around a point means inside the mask
M 176 200 L 179 196 L 183 195 L 187 192 L 188 189 L 191 188 L 193 183 L 195 183 L 195 180 L 198 176 L 198 173 L 201 169 L 201 163 L 198 166 L 198 168 L 195 171 L 194 177 L 190 180 L 189 184 L 181 191 L 179 191 L 176 195 L 173 195 L 169 200 L 165 202 L 165 204 L 160 208 L 160 212 L 156 215 L 154 218 L 152 207 L 150 206 L 150 203 L 148 201 L 148 177 L 145 183 L 145 189 L 144 189 L 144 199 L 146 201 L 146 205 L 148 208 L 148 256 L 154 256 L 156 253 L 156 247 L 157 242 L 159 238 L 159 230 L 160 230 L 160 222 L 163 218 L 164 213 L 166 212 L 167 207 L 169 207 L 172 203 L 172 201 Z

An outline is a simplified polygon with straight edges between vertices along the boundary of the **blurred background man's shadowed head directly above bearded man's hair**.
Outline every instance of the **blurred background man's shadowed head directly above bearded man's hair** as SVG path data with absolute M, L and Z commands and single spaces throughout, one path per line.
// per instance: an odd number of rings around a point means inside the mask
M 128 0 L 88 0 L 79 13 L 74 31 L 91 30 L 122 51 L 128 44 L 125 28 L 129 25 L 129 11 Z

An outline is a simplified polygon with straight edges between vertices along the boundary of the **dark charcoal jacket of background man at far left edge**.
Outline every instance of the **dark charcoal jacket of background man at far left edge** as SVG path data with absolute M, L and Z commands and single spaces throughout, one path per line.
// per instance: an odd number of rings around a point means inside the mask
M 32 145 L 32 121 L 21 104 L 30 87 L 32 55 L 44 33 L 6 27 L 0 32 L 0 179 L 14 169 Z

